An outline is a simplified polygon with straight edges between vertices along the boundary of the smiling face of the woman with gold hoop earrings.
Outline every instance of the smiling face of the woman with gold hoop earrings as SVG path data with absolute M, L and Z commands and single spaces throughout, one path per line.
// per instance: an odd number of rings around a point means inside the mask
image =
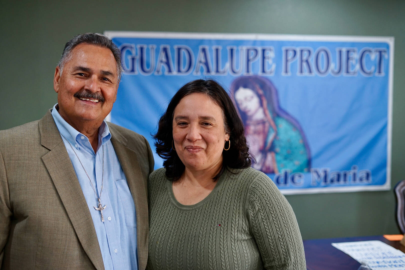
M 173 113 L 173 142 L 186 169 L 219 170 L 228 139 L 222 109 L 209 96 L 194 93 L 177 104 Z

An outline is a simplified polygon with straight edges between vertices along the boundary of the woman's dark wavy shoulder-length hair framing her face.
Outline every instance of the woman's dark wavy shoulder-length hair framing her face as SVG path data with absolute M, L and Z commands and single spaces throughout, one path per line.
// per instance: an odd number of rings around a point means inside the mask
M 176 151 L 172 149 L 173 114 L 180 100 L 194 93 L 205 94 L 220 106 L 224 117 L 225 131 L 230 136 L 230 148 L 228 151 L 222 151 L 222 168 L 213 177 L 214 181 L 221 176 L 226 167 L 237 169 L 249 167 L 252 160 L 249 156 L 249 147 L 246 144 L 245 130 L 232 100 L 224 88 L 216 81 L 199 79 L 186 83 L 177 91 L 169 102 L 166 112 L 160 117 L 158 132 L 153 136 L 156 153 L 164 159 L 163 167 L 166 168 L 166 176 L 172 181 L 176 181 L 184 172 L 185 166 L 183 162 L 181 162 Z

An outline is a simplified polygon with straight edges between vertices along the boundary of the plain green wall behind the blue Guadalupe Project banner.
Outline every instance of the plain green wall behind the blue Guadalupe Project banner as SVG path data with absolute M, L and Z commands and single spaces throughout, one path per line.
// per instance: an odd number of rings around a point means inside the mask
M 23 3 L 26 2 L 26 3 Z M 53 74 L 79 33 L 179 31 L 394 36 L 392 186 L 405 178 L 405 1 L 2 1 L 0 130 L 56 103 Z M 379 158 L 379 157 L 375 157 Z M 396 234 L 393 191 L 287 196 L 304 239 Z

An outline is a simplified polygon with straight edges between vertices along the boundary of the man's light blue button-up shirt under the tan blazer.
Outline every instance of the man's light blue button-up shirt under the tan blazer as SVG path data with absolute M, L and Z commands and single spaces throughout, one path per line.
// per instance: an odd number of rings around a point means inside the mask
M 70 161 L 75 169 L 77 179 L 79 179 L 90 214 L 92 215 L 104 268 L 106 270 L 137 270 L 135 205 L 125 174 L 111 144 L 111 133 L 108 125 L 103 121 L 98 129 L 98 148 L 96 153 L 94 153 L 89 139 L 72 128 L 60 116 L 56 110 L 57 105 L 53 106 L 52 117 L 60 134 L 62 134 L 62 140 L 68 151 Z M 98 194 L 100 194 L 103 178 L 104 148 L 104 184 L 100 196 L 102 206 L 107 205 L 102 211 L 104 222 L 101 221 L 100 211 L 93 207 L 97 207 L 97 196 L 69 142 L 79 156 Z M 69 185 L 68 180 L 66 179 L 66 185 Z

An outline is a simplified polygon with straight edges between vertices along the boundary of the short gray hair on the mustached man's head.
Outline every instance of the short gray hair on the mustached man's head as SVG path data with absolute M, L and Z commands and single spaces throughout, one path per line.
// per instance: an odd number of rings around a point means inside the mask
M 60 57 L 58 67 L 60 68 L 60 74 L 62 75 L 62 70 L 64 65 L 70 60 L 72 57 L 72 50 L 81 43 L 96 45 L 99 47 L 110 49 L 114 55 L 115 62 L 117 64 L 117 75 L 118 75 L 118 82 L 121 80 L 122 69 L 121 65 L 121 51 L 117 48 L 117 46 L 113 43 L 113 41 L 103 34 L 98 33 L 86 33 L 80 34 L 69 40 L 65 48 L 63 49 L 62 57 Z

